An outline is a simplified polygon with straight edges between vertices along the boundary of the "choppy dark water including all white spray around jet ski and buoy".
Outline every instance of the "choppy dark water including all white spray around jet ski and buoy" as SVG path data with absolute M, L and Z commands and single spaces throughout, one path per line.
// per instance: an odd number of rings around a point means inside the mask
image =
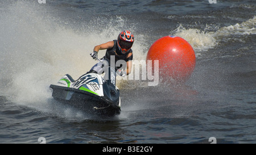
M 255 1 L 1 1 L 0 143 L 256 143 Z M 95 45 L 134 32 L 134 59 L 176 35 L 195 50 L 185 85 L 119 80 L 122 111 L 94 118 L 49 85 L 95 63 Z M 105 51 L 100 53 L 100 57 Z

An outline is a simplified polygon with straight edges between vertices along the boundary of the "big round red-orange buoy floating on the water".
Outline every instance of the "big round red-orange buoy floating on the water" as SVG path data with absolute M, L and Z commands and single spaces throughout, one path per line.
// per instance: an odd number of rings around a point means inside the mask
M 179 83 L 187 81 L 196 66 L 196 55 L 192 46 L 176 36 L 156 40 L 148 50 L 146 60 L 159 60 L 159 79 Z

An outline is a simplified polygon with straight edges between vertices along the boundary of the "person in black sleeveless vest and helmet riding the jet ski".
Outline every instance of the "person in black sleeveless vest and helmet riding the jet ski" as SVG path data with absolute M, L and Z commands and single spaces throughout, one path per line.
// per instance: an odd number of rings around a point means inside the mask
M 115 68 L 115 70 L 117 70 L 117 74 L 121 76 L 125 76 L 130 74 L 131 72 L 131 66 L 132 66 L 132 60 L 133 60 L 133 50 L 131 50 L 131 46 L 133 46 L 133 42 L 134 42 L 133 33 L 131 33 L 130 31 L 122 31 L 121 33 L 119 33 L 117 40 L 109 41 L 104 44 L 95 46 L 91 56 L 93 57 L 93 59 L 97 59 L 98 51 L 106 49 L 106 54 L 102 58 L 102 60 L 106 60 L 109 63 L 110 61 L 112 61 L 110 59 L 110 56 L 114 55 L 114 60 L 115 60 L 114 64 L 119 60 L 123 60 L 124 62 L 126 62 L 126 64 L 123 64 L 126 66 L 126 71 L 119 70 L 119 68 L 125 68 L 125 66 L 123 66 L 122 64 L 120 67 Z M 102 74 L 104 72 L 102 68 L 102 64 L 103 64 L 102 62 L 98 62 L 90 69 L 89 72 Z

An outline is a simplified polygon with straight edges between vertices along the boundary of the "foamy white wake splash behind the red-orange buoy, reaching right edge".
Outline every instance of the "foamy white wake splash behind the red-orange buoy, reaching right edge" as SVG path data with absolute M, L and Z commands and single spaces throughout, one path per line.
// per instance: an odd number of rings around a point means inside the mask
M 207 25 L 204 31 L 200 31 L 200 29 L 194 28 L 186 29 L 182 26 L 182 24 L 180 24 L 179 27 L 171 32 L 171 35 L 179 36 L 187 40 L 195 50 L 195 54 L 198 57 L 201 55 L 201 51 L 206 51 L 216 47 L 218 45 L 219 37 L 256 34 L 255 23 L 256 16 L 242 23 L 229 25 L 228 27 L 222 27 L 216 32 L 208 32 Z

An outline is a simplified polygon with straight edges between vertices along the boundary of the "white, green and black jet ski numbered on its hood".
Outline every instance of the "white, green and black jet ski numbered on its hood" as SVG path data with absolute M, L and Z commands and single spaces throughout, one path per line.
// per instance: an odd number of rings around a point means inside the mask
M 66 74 L 57 84 L 49 86 L 53 90 L 52 97 L 89 114 L 104 117 L 118 115 L 121 113 L 121 98 L 115 85 L 117 74 L 109 65 L 107 70 L 104 77 L 96 73 L 86 73 L 77 80 Z

